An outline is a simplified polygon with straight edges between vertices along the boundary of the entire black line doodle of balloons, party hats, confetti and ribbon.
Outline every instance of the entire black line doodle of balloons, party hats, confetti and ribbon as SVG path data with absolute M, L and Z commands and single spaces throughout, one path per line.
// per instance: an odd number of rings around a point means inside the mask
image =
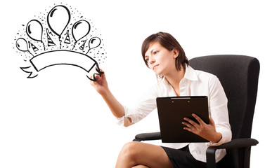
M 72 7 L 54 6 L 22 28 L 15 37 L 15 49 L 27 64 L 20 67 L 30 73 L 27 78 L 60 64 L 84 69 L 86 76 L 94 81 L 95 75 L 102 74 L 98 64 L 104 62 L 106 52 L 101 34 L 91 20 L 87 21 Z

